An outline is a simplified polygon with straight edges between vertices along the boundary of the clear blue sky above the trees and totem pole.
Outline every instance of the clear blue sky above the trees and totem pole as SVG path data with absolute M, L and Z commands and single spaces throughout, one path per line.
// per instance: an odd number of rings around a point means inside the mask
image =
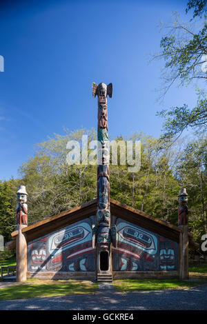
M 34 144 L 53 133 L 97 126 L 92 82 L 113 83 L 110 137 L 161 134 L 157 110 L 195 104 L 193 88 L 171 88 L 157 103 L 159 21 L 184 20 L 187 1 L 6 1 L 0 12 L 0 179 L 18 176 Z

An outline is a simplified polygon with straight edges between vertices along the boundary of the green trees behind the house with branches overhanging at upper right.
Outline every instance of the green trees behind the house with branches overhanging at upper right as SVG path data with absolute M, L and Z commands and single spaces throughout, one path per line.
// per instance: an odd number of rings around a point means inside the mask
M 206 1 L 188 1 L 186 11 L 189 10 L 194 10 L 193 19 L 204 19 Z M 206 25 L 197 34 L 187 30 L 182 42 L 177 39 L 177 30 L 186 27 L 179 23 L 174 26 L 161 39 L 161 53 L 155 55 L 155 59 L 164 58 L 164 68 L 170 71 L 163 94 L 177 79 L 189 83 L 197 78 L 206 86 L 206 74 L 198 69 L 202 55 L 207 54 Z M 177 225 L 177 195 L 181 186 L 186 187 L 189 230 L 199 242 L 207 232 L 207 105 L 205 91 L 195 91 L 199 93 L 197 107 L 185 105 L 159 112 L 164 118 L 159 139 L 141 132 L 130 137 L 141 141 L 141 169 L 130 173 L 127 165 L 110 165 L 110 197 Z M 187 128 L 191 129 L 191 136 L 181 137 Z M 34 156 L 21 165 L 19 179 L 0 181 L 0 234 L 5 241 L 10 240 L 10 233 L 16 228 L 19 185 L 26 185 L 29 194 L 29 225 L 96 197 L 97 167 L 66 163 L 66 143 L 71 139 L 80 141 L 83 134 L 88 134 L 89 140 L 97 136 L 95 130 L 85 129 L 55 134 L 36 146 Z M 117 141 L 120 139 L 121 135 Z

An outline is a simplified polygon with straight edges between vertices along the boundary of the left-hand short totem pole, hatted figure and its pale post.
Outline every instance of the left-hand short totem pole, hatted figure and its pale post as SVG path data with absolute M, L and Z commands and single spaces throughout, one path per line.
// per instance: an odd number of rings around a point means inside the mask
M 20 185 L 17 191 L 17 282 L 27 279 L 27 242 L 21 232 L 28 226 L 28 205 L 26 204 L 28 194 L 24 185 Z

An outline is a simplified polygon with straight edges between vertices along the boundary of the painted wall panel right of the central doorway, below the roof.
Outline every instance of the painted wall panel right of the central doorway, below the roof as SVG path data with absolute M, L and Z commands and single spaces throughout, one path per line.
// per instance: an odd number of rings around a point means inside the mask
M 112 248 L 113 271 L 177 271 L 178 243 L 113 216 L 117 244 Z

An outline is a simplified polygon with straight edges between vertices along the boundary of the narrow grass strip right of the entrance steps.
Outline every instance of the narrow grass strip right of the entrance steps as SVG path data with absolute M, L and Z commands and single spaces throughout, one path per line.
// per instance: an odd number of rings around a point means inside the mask
M 146 290 L 166 290 L 195 287 L 204 281 L 179 281 L 179 279 L 124 279 L 114 281 L 120 292 L 135 292 Z

